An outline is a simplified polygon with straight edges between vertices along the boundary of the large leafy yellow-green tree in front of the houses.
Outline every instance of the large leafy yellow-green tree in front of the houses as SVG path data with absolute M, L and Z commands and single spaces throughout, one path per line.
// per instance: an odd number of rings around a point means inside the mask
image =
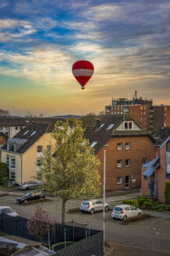
M 71 119 L 55 124 L 52 137 L 55 146 L 42 157 L 43 189 L 62 199 L 62 223 L 66 201 L 80 197 L 96 197 L 101 192 L 100 162 L 84 139 L 81 121 Z

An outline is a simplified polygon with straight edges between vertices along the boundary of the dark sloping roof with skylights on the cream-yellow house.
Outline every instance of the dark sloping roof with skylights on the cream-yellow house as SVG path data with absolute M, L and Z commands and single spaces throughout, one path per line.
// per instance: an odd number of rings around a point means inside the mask
M 26 126 L 23 130 L 20 130 L 19 133 L 17 133 L 16 136 L 12 137 L 12 139 L 10 139 L 9 141 L 17 141 L 17 139 L 19 139 L 19 143 L 21 143 L 21 146 L 15 152 L 23 154 L 40 137 L 42 137 L 44 133 L 51 133 L 54 129 L 54 124 L 55 120 L 52 123 L 33 123 Z M 5 144 L 2 149 L 7 150 L 7 144 Z M 14 144 L 11 144 L 9 151 L 14 151 Z

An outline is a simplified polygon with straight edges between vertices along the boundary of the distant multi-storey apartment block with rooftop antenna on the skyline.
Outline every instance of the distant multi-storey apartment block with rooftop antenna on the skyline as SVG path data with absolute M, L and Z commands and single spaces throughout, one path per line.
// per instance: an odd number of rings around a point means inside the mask
M 170 105 L 153 105 L 152 100 L 135 97 L 112 99 L 112 105 L 105 106 L 105 114 L 121 114 L 131 116 L 143 130 L 159 130 L 170 126 Z

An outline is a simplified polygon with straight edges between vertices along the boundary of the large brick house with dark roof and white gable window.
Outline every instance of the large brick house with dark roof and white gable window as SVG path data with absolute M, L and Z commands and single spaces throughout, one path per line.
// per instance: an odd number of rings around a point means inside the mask
M 104 144 L 106 149 L 106 190 L 140 187 L 143 163 L 155 158 L 154 140 L 137 123 L 123 115 L 107 115 L 88 129 L 85 137 L 101 162 L 103 180 Z

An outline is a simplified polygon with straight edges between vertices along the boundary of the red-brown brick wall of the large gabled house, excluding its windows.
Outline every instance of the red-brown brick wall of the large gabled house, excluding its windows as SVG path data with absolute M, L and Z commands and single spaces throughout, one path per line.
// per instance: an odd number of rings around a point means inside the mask
M 117 150 L 117 143 L 122 142 L 122 150 Z M 131 148 L 125 149 L 126 142 L 130 142 Z M 108 141 L 108 148 L 106 149 L 106 190 L 124 190 L 126 176 L 129 176 L 129 187 L 137 188 L 141 186 L 141 165 L 143 158 L 147 158 L 150 162 L 155 158 L 156 150 L 154 143 L 150 137 L 136 136 L 136 137 L 112 137 Z M 103 180 L 103 159 L 104 149 L 97 153 L 101 161 L 101 181 Z M 117 160 L 122 159 L 122 168 L 117 168 Z M 130 166 L 125 167 L 126 159 L 130 159 Z M 122 184 L 117 184 L 117 177 L 122 177 Z M 136 180 L 131 182 L 131 177 Z

